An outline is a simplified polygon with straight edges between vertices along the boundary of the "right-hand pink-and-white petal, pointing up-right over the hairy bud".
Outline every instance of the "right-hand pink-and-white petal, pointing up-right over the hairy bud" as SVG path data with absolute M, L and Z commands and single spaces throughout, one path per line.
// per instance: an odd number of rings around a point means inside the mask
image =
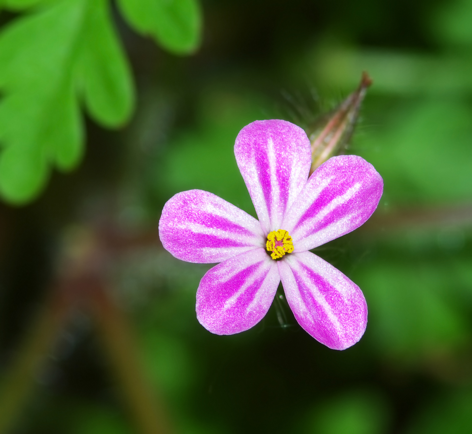
M 330 158 L 310 176 L 282 223 L 294 251 L 314 249 L 358 228 L 371 217 L 382 192 L 382 177 L 363 158 Z

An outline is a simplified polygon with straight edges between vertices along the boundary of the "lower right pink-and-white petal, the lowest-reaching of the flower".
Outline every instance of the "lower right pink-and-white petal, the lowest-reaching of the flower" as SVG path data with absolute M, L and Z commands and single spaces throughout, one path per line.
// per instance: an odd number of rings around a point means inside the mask
M 360 288 L 313 253 L 292 253 L 278 262 L 288 304 L 298 324 L 333 350 L 361 339 L 367 304 Z

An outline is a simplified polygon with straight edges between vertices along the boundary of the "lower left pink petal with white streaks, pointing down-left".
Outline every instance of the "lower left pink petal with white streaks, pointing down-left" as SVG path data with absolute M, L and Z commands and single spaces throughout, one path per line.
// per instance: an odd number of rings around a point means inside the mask
M 256 325 L 270 308 L 280 277 L 263 249 L 244 252 L 211 268 L 197 291 L 197 319 L 215 334 Z

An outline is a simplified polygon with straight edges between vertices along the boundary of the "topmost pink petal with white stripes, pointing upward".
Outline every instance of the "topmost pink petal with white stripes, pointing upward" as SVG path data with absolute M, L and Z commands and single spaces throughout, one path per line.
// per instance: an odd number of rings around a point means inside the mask
M 282 120 L 255 121 L 236 137 L 236 162 L 265 234 L 281 227 L 285 212 L 306 184 L 310 141 L 302 128 Z

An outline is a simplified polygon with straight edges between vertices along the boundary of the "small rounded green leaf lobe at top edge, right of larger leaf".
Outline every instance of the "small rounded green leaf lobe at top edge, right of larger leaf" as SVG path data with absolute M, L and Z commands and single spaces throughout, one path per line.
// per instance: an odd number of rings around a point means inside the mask
M 202 14 L 197 0 L 118 0 L 138 31 L 151 34 L 167 50 L 193 52 L 200 43 Z

